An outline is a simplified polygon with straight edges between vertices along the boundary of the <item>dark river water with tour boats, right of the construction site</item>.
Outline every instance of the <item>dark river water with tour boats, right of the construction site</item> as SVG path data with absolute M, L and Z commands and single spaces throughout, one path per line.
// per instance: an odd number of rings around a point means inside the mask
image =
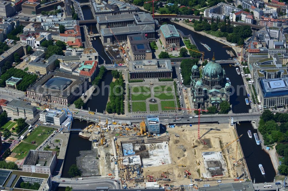
M 251 130 L 252 134 L 257 133 L 254 130 L 250 122 L 241 122 L 236 125 L 238 136 L 240 137 L 240 144 L 247 162 L 247 167 L 250 172 L 251 180 L 255 178 L 255 182 L 273 182 L 276 172 L 273 168 L 270 156 L 264 150 L 261 145 L 257 145 L 254 135 L 252 138 L 248 137 L 247 131 Z M 263 165 L 265 175 L 262 175 L 259 164 Z

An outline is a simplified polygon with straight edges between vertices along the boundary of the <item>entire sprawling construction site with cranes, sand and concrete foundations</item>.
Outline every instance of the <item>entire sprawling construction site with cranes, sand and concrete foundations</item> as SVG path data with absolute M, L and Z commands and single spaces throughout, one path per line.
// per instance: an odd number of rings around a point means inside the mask
M 159 126 L 151 128 L 149 117 L 138 124 L 106 120 L 79 133 L 97 150 L 99 175 L 114 178 L 117 165 L 123 188 L 171 189 L 249 178 L 234 126 L 167 125 L 166 133 L 156 136 L 150 130 Z

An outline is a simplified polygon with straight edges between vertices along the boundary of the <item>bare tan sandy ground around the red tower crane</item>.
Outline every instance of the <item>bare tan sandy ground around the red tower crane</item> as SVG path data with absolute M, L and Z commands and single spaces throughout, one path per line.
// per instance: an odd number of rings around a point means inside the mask
M 170 135 L 170 141 L 169 141 L 169 149 L 170 149 L 170 156 L 172 158 L 172 164 L 168 165 L 161 165 L 158 167 L 147 167 L 143 169 L 143 176 L 144 178 L 147 175 L 153 176 L 155 178 L 161 178 L 161 173 L 163 171 L 168 171 L 169 174 L 165 174 L 167 178 L 171 179 L 171 182 L 159 180 L 159 184 L 190 184 L 189 178 L 184 178 L 184 171 L 187 170 L 191 173 L 190 178 L 201 178 L 202 174 L 205 173 L 204 165 L 203 164 L 203 158 L 202 158 L 202 152 L 206 151 L 221 151 L 220 147 L 220 141 L 222 145 L 226 143 L 230 143 L 233 141 L 236 137 L 234 134 L 233 127 L 228 126 L 228 124 L 208 124 L 208 125 L 201 125 L 200 126 L 200 135 L 203 135 L 207 130 L 210 128 L 217 128 L 221 129 L 220 131 L 212 130 L 208 134 L 206 134 L 203 139 L 208 143 L 207 145 L 203 145 L 200 143 L 199 140 L 197 140 L 197 126 L 194 127 L 176 127 L 176 128 L 168 128 L 168 132 Z M 207 129 L 204 129 L 207 128 Z M 180 137 L 175 137 L 175 134 L 180 135 Z M 193 143 L 195 145 L 198 145 L 198 147 L 192 148 Z M 179 145 L 184 145 L 186 151 L 183 151 L 182 149 L 178 149 Z M 225 172 L 226 175 L 224 177 L 221 177 L 221 179 L 232 179 L 234 178 L 236 172 L 232 170 L 232 163 L 230 162 L 230 157 L 235 157 L 236 151 L 236 143 L 232 144 L 232 146 L 229 149 L 229 156 L 226 156 L 225 152 L 224 159 L 228 160 L 226 161 L 226 164 L 228 166 L 228 171 Z M 238 149 L 238 156 L 240 156 L 240 151 Z M 238 157 L 240 158 L 240 157 Z M 197 163 L 200 161 L 200 165 L 197 165 Z M 234 160 L 232 160 L 234 161 Z M 179 167 L 178 165 L 186 165 L 186 167 Z M 200 176 L 198 174 L 200 170 Z M 241 174 L 239 172 L 238 174 Z M 163 177 L 162 177 L 163 178 Z M 217 180 L 218 178 L 213 178 L 209 180 Z M 214 181 L 216 182 L 216 181 Z

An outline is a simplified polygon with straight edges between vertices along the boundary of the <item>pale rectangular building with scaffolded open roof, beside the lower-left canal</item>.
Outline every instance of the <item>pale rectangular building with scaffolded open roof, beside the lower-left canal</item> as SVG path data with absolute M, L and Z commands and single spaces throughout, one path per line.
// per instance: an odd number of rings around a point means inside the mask
M 23 162 L 23 171 L 52 174 L 56 163 L 55 151 L 30 150 Z

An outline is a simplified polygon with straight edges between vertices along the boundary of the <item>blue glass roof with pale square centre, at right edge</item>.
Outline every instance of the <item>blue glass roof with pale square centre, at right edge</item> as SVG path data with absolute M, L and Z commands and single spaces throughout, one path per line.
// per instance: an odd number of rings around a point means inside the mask
M 262 79 L 259 83 L 264 97 L 288 95 L 288 78 Z

